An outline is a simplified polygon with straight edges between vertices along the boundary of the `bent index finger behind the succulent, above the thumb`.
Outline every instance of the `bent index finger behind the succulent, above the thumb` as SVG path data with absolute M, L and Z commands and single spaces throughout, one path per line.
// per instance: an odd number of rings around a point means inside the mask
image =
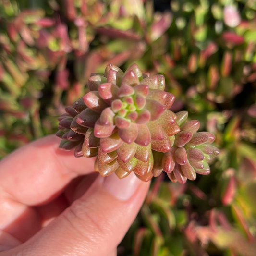
M 77 175 L 94 171 L 94 159 L 74 158 L 50 135 L 28 144 L 0 162 L 0 188 L 12 199 L 34 206 L 51 200 Z

